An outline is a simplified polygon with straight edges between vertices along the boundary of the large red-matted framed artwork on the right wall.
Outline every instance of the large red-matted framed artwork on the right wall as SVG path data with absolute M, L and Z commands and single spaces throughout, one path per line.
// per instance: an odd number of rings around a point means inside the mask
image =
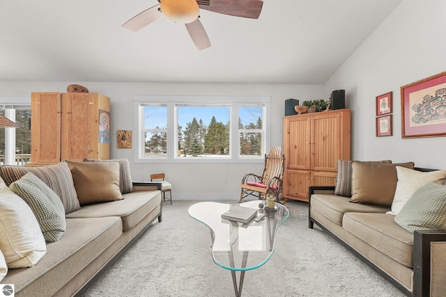
M 401 87 L 401 137 L 446 136 L 446 72 Z

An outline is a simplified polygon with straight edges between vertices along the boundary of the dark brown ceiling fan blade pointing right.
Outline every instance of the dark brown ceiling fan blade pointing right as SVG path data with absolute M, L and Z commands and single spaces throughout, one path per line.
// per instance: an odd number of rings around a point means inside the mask
M 258 19 L 263 7 L 260 0 L 197 0 L 197 3 L 204 10 L 250 19 Z

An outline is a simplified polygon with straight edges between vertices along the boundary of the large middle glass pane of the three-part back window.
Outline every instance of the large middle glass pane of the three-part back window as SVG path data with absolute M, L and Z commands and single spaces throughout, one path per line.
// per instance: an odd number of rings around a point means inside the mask
M 178 156 L 229 156 L 230 106 L 177 106 Z

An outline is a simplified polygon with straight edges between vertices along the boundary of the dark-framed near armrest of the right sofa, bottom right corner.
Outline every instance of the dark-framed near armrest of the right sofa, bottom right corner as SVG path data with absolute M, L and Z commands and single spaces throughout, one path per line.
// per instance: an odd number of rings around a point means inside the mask
M 440 296 L 446 291 L 446 230 L 415 230 L 413 236 L 413 296 Z

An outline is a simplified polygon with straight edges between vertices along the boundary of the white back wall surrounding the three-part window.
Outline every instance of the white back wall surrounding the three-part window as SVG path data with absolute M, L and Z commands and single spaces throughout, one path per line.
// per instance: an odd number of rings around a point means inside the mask
M 286 99 L 328 98 L 323 86 L 195 84 L 195 83 L 91 83 L 91 82 L 2 82 L 0 95 L 31 95 L 31 92 L 66 92 L 71 83 L 89 88 L 111 99 L 111 131 L 134 129 L 133 95 L 264 95 L 271 96 L 271 145 L 282 146 L 282 118 Z M 112 138 L 113 139 L 113 138 Z M 149 175 L 165 172 L 173 184 L 174 199 L 234 199 L 247 172 L 261 174 L 263 163 L 134 163 L 134 148 L 117 149 L 111 143 L 111 158 L 130 159 L 132 179 L 148 181 Z

